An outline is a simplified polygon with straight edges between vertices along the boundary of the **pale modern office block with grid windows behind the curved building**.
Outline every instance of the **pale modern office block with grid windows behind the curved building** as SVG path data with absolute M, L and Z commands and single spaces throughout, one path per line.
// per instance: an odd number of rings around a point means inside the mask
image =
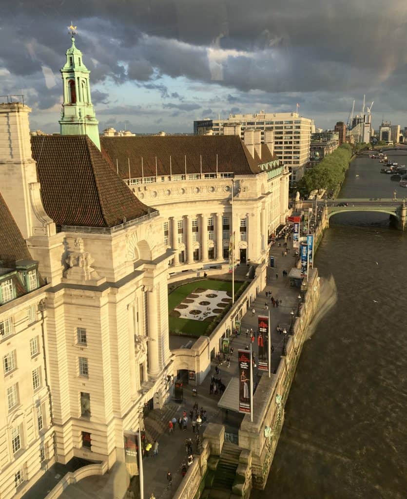
M 288 166 L 291 182 L 295 183 L 304 175 L 310 160 L 311 133 L 315 129 L 312 119 L 298 113 L 266 113 L 262 110 L 255 114 L 230 114 L 225 119 L 194 121 L 194 133 L 222 135 L 225 125 L 240 125 L 242 139 L 245 130 L 260 130 L 262 142 L 267 131 L 274 132 L 274 153 Z

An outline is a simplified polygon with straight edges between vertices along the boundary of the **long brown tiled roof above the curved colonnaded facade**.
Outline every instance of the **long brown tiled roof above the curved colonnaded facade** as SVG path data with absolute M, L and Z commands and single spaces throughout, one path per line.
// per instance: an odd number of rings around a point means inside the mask
M 100 137 L 103 154 L 110 159 L 114 170 L 116 165 L 122 179 L 155 177 L 170 174 L 185 174 L 185 156 L 188 173 L 234 172 L 236 175 L 260 173 L 260 160 L 252 158 L 246 146 L 237 135 L 166 135 L 145 137 Z M 270 152 L 268 152 L 269 156 Z M 143 158 L 143 167 L 141 167 Z M 116 163 L 117 161 L 117 163 Z M 267 160 L 270 161 L 270 160 Z

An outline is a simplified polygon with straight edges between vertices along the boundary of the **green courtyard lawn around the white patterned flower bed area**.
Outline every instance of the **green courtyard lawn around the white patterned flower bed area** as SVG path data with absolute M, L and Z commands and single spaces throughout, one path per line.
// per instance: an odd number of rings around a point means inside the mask
M 235 296 L 243 282 L 235 282 Z M 173 310 L 181 301 L 186 298 L 197 288 L 213 289 L 218 291 L 229 291 L 232 294 L 231 281 L 217 281 L 217 280 L 201 280 L 189 282 L 183 286 L 177 287 L 168 295 L 168 311 Z M 209 321 L 200 321 L 194 319 L 181 319 L 179 317 L 168 317 L 170 331 L 177 331 L 179 334 L 186 336 L 202 336 L 205 334 L 208 326 L 212 324 Z

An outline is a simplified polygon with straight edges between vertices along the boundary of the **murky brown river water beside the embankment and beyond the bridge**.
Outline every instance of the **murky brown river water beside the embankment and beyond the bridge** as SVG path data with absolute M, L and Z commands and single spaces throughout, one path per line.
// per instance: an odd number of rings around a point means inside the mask
M 356 158 L 339 197 L 406 196 L 380 168 Z M 251 497 L 405 498 L 407 233 L 384 214 L 336 215 L 316 266 L 336 302 L 304 345 L 266 490 Z

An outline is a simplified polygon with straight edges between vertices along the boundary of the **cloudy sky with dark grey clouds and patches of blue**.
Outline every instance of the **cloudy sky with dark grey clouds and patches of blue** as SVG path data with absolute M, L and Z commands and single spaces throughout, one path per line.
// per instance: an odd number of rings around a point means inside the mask
M 58 132 L 67 26 L 90 73 L 99 130 L 191 133 L 229 113 L 407 126 L 405 0 L 0 0 L 0 94 Z

